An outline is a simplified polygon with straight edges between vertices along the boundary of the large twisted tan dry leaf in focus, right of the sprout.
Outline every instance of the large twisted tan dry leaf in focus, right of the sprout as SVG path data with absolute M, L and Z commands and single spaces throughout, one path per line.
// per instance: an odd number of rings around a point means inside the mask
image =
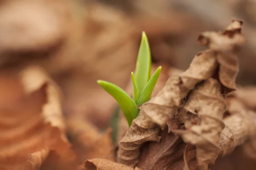
M 140 115 L 119 144 L 119 162 L 135 166 L 141 145 L 158 141 L 159 127 L 164 129 L 167 125 L 169 131 L 196 145 L 199 169 L 207 170 L 208 164 L 214 163 L 216 153 L 221 150 L 218 143 L 224 128 L 223 89 L 236 89 L 236 53 L 244 42 L 241 25 L 240 20 L 232 20 L 224 32 L 205 32 L 199 36 L 201 45 L 209 49 L 197 54 L 185 72 L 171 76 L 163 89 L 142 105 Z M 175 114 L 185 124 L 185 130 L 173 129 L 170 119 Z

